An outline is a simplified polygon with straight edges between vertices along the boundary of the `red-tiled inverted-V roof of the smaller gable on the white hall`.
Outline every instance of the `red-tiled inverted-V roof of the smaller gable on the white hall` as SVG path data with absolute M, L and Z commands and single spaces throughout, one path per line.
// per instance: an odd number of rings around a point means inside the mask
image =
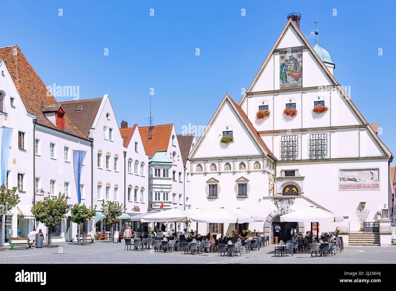
M 274 156 L 274 154 L 269 150 L 268 146 L 265 144 L 265 142 L 263 141 L 261 136 L 257 133 L 257 130 L 255 129 L 253 124 L 250 122 L 249 118 L 247 118 L 247 115 L 244 112 L 244 110 L 238 104 L 236 104 L 236 102 L 230 97 L 230 95 L 228 95 L 228 93 L 225 94 L 223 100 L 221 101 L 221 103 L 217 107 L 217 109 L 216 109 L 215 113 L 213 114 L 212 118 L 209 120 L 208 125 L 205 127 L 204 132 L 202 133 L 200 139 L 197 141 L 196 146 L 194 146 L 194 148 L 192 149 L 190 155 L 194 154 L 196 152 L 196 150 L 198 150 L 200 143 L 202 143 L 203 137 L 206 135 L 206 133 L 208 133 L 208 130 L 211 127 L 211 124 L 215 120 L 215 117 L 220 113 L 220 109 L 223 107 L 223 104 L 225 102 L 227 102 L 227 101 L 230 103 L 230 105 L 232 107 L 234 107 L 234 110 L 236 111 L 237 115 L 240 117 L 241 121 L 245 124 L 246 128 L 248 129 L 248 131 L 252 135 L 253 139 L 255 139 L 258 142 L 259 146 L 261 147 L 261 150 L 263 150 L 263 152 L 265 152 L 273 160 L 275 160 L 275 161 L 278 160 Z

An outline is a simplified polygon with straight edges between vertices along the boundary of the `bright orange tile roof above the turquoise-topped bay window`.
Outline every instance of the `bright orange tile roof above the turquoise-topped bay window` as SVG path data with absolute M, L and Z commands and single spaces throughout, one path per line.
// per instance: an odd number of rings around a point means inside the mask
M 140 137 L 149 159 L 151 159 L 156 152 L 168 151 L 172 129 L 173 123 L 151 127 L 139 127 Z M 152 137 L 149 139 L 148 137 L 150 135 L 152 135 Z

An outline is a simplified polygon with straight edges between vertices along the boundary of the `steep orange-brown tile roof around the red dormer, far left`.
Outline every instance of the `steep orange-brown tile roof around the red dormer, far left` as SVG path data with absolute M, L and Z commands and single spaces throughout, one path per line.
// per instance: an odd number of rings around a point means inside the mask
M 4 61 L 7 70 L 10 72 L 11 78 L 27 112 L 36 116 L 38 124 L 57 129 L 48 118 L 46 118 L 42 112 L 42 108 L 51 105 L 56 106 L 58 103 L 51 92 L 47 90 L 46 85 L 27 61 L 19 47 L 15 45 L 0 48 L 0 62 L 1 61 Z M 64 131 L 66 133 L 85 138 L 85 136 L 72 125 L 67 114 L 64 117 L 64 124 Z

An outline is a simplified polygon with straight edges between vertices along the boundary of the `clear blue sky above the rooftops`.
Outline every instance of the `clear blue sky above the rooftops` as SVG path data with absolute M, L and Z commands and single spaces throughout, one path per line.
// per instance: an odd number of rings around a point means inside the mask
M 396 82 L 385 69 L 394 67 L 395 2 L 294 3 L 4 1 L 0 47 L 17 44 L 46 85 L 79 86 L 80 99 L 109 94 L 119 123 L 147 125 L 154 88 L 154 124 L 174 123 L 181 133 L 188 123 L 205 126 L 226 90 L 239 101 L 287 14 L 297 11 L 312 45 L 318 22 L 319 44 L 336 65 L 335 77 L 350 86 L 351 99 L 368 122 L 379 123 L 381 139 L 395 153 Z

